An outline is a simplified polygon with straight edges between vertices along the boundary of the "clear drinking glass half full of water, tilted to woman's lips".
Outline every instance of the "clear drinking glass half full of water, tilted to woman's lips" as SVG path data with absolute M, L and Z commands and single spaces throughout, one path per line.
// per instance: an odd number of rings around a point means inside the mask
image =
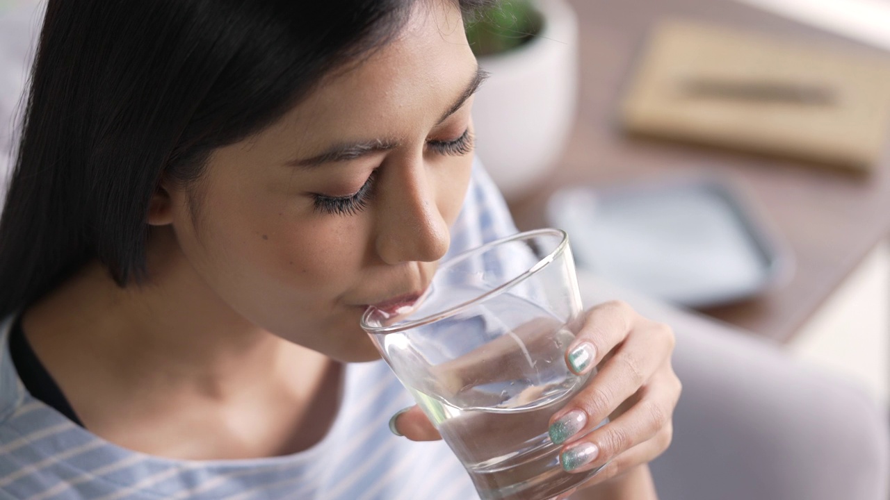
M 483 500 L 542 500 L 597 472 L 564 472 L 547 434 L 592 376 L 565 359 L 580 313 L 568 236 L 534 230 L 442 262 L 415 304 L 361 326 Z

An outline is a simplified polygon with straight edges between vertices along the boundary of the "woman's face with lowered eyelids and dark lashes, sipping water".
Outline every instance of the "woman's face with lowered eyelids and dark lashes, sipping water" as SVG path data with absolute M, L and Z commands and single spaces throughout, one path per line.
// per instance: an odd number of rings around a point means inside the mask
M 374 359 L 368 304 L 397 307 L 449 247 L 479 83 L 451 2 L 262 133 L 214 152 L 193 202 L 168 190 L 182 254 L 251 323 L 334 359 Z M 388 302 L 388 304 L 387 304 Z

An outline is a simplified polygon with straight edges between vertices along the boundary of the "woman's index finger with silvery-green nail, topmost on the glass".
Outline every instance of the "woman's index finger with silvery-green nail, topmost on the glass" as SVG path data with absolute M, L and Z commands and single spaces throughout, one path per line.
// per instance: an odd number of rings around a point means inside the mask
M 588 310 L 578 338 L 566 351 L 566 365 L 577 375 L 589 372 L 609 351 L 624 342 L 636 320 L 636 312 L 626 302 L 606 302 Z

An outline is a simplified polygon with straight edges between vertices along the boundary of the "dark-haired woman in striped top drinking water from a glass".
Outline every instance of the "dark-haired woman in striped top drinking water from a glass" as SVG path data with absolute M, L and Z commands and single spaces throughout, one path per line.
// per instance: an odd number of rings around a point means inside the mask
M 409 399 L 359 327 L 514 231 L 473 166 L 472 8 L 50 1 L 0 224 L 0 496 L 474 496 L 388 434 Z M 673 343 L 587 311 L 567 359 L 601 371 L 551 422 L 571 472 L 609 462 L 578 498 L 655 497 Z

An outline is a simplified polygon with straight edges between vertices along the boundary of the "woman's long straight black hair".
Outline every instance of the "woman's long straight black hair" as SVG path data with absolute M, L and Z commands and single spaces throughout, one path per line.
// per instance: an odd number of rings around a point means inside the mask
M 0 219 L 0 317 L 93 259 L 119 286 L 143 278 L 158 182 L 198 181 L 213 149 L 386 44 L 413 4 L 49 0 Z

